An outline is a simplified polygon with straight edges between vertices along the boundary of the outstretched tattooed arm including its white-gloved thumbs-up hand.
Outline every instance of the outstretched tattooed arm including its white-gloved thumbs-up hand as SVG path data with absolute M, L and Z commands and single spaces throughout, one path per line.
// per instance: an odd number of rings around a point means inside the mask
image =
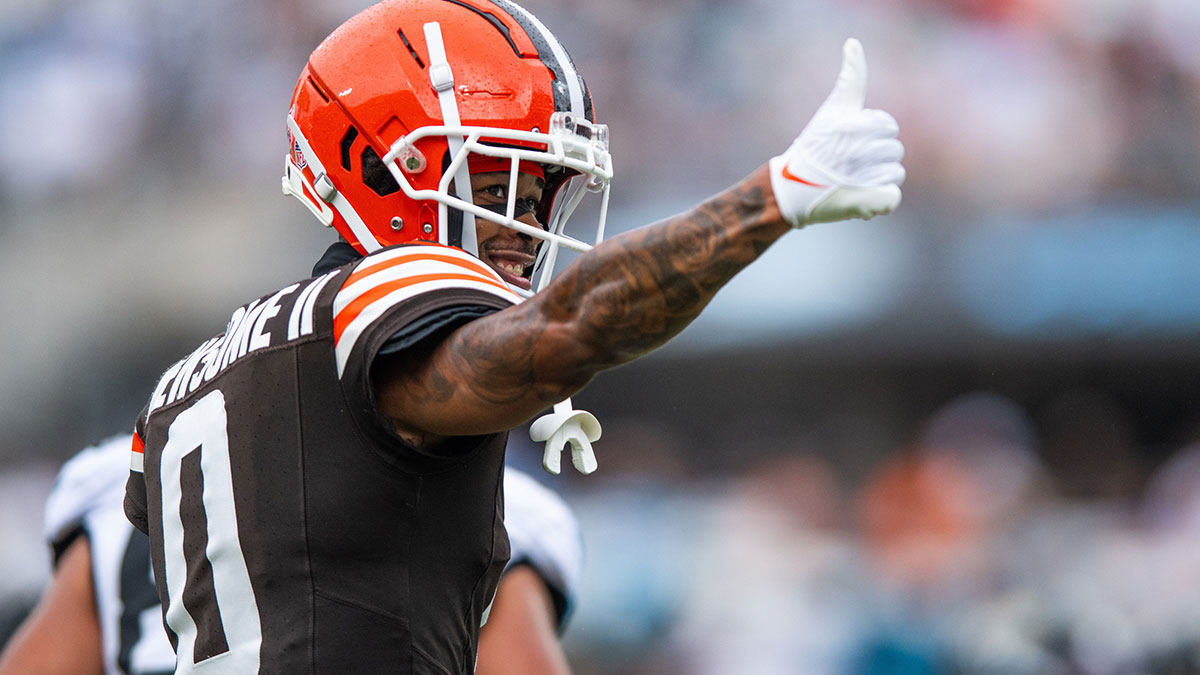
M 847 41 L 838 83 L 792 145 L 696 208 L 616 237 L 526 303 L 384 360 L 378 407 L 418 444 L 511 429 L 683 330 L 793 227 L 872 217 L 900 202 L 895 120 L 863 108 Z

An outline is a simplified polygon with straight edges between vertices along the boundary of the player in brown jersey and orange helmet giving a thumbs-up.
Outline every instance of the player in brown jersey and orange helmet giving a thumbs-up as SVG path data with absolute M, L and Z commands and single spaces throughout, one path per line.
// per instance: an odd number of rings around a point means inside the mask
M 384 0 L 335 30 L 292 97 L 283 186 L 356 259 L 235 309 L 136 424 L 125 512 L 178 671 L 472 671 L 510 555 L 508 431 L 553 406 L 544 464 L 569 444 L 592 471 L 599 424 L 568 399 L 595 374 L 790 231 L 895 209 L 899 130 L 865 79 L 850 40 L 782 154 L 599 243 L 608 130 L 533 14 Z M 589 193 L 596 234 L 568 235 Z M 582 253 L 558 271 L 562 247 Z

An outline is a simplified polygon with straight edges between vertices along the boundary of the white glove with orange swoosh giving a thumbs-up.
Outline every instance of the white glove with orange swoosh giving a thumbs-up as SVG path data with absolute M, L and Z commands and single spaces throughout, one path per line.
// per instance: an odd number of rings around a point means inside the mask
M 900 205 L 904 145 L 896 120 L 863 109 L 866 58 L 850 38 L 833 92 L 792 145 L 770 163 L 770 187 L 793 227 L 889 214 Z

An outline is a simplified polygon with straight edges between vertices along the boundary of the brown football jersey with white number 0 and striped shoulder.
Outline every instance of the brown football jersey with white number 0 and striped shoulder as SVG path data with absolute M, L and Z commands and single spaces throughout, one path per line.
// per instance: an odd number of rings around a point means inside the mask
M 473 670 L 509 558 L 506 434 L 421 453 L 370 371 L 520 299 L 457 249 L 385 249 L 239 307 L 162 376 L 125 510 L 180 673 Z

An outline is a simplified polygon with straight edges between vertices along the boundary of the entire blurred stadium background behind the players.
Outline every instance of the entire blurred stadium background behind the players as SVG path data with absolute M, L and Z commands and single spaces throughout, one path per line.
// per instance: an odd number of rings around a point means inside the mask
M 59 465 L 332 233 L 284 114 L 358 0 L 0 2 L 0 623 Z M 526 0 L 610 228 L 782 150 L 846 37 L 905 202 L 793 233 L 576 398 L 588 674 L 1200 673 L 1200 4 Z

